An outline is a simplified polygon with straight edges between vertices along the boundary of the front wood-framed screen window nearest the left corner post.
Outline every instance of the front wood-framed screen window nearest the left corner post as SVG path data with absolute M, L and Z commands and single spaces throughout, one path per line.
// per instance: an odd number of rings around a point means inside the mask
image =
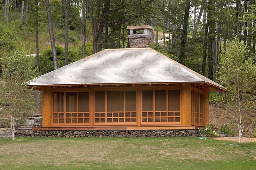
M 89 92 L 54 92 L 53 125 L 89 125 Z

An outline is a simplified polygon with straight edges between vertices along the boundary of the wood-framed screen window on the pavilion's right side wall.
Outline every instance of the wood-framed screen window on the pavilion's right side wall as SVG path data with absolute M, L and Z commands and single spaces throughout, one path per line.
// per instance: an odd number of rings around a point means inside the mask
M 204 95 L 199 90 L 191 91 L 191 124 L 204 126 Z

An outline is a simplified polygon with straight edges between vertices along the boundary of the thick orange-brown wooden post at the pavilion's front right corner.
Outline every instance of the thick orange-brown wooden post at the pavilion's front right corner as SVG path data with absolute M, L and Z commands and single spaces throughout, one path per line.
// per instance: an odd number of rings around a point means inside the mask
M 191 83 L 181 85 L 181 126 L 191 126 Z

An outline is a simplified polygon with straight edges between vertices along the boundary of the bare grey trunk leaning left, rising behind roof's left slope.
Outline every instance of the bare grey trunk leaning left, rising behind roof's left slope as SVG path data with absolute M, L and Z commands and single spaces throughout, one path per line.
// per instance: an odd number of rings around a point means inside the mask
M 49 0 L 42 0 L 42 1 L 44 2 L 44 5 L 46 7 L 46 12 L 47 12 L 49 34 L 50 34 L 50 38 L 51 38 L 51 47 L 52 47 L 53 69 L 56 70 L 58 68 L 58 61 L 57 61 L 57 54 L 56 54 L 55 38 L 54 38 L 54 34 L 53 34 L 50 2 L 49 2 Z

